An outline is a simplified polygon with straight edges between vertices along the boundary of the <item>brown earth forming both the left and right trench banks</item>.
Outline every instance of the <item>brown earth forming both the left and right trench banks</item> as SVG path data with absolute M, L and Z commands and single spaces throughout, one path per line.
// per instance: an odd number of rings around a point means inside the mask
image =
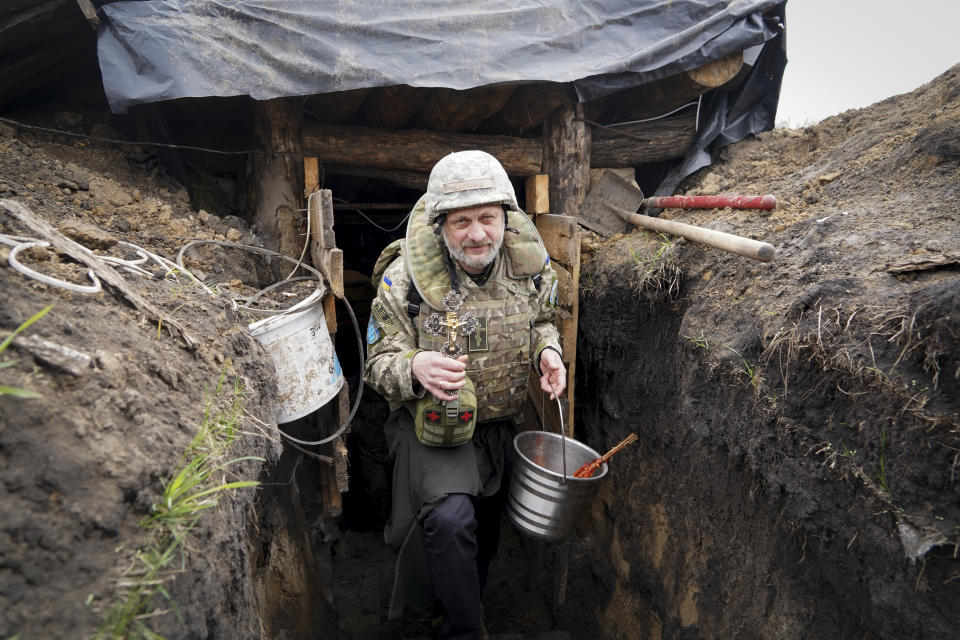
M 104 113 L 5 115 L 122 137 Z M 505 524 L 485 602 L 491 632 L 954 634 L 957 122 L 960 67 L 868 109 L 716 152 L 682 192 L 773 193 L 777 208 L 662 217 L 769 242 L 770 263 L 640 230 L 585 232 L 576 437 L 602 451 L 631 431 L 640 440 L 613 459 L 570 542 L 533 543 Z M 0 198 L 101 255 L 133 257 L 116 241 L 172 260 L 195 238 L 259 244 L 239 218 L 194 210 L 136 146 L 0 124 Z M 0 233 L 35 236 L 5 212 Z M 263 484 L 204 514 L 183 567 L 165 576 L 170 599 L 152 628 L 171 638 L 433 632 L 383 616 L 393 557 L 380 538 L 382 401 L 365 395 L 352 428 L 339 518 L 323 515 L 318 463 L 281 446 L 269 424 L 273 366 L 233 301 L 269 280 L 263 260 L 221 245 L 191 251 L 187 266 L 221 283 L 217 295 L 156 267 L 121 270 L 191 347 L 115 289 L 69 292 L 8 257 L 0 245 L 0 336 L 54 306 L 0 353 L 16 360 L 0 384 L 41 396 L 0 396 L 0 637 L 94 633 L 205 406 L 225 401 L 221 378 L 229 389 L 241 381 L 247 407 L 232 455 L 264 459 L 230 477 Z M 85 282 L 84 268 L 49 249 L 20 258 Z M 309 435 L 313 424 L 293 428 Z

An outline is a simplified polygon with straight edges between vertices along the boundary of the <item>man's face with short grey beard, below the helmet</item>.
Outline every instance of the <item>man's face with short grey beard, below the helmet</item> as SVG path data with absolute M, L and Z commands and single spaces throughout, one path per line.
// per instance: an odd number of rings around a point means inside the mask
M 484 204 L 457 209 L 443 222 L 443 241 L 467 273 L 482 273 L 503 245 L 503 207 Z

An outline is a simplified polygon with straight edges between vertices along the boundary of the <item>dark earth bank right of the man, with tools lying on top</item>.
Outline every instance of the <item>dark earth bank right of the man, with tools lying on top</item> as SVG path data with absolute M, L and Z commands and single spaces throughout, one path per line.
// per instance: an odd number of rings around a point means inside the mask
M 769 242 L 770 263 L 590 243 L 578 437 L 640 436 L 570 569 L 603 637 L 955 633 L 958 117 L 954 67 L 723 149 L 682 191 L 777 208 L 661 217 Z

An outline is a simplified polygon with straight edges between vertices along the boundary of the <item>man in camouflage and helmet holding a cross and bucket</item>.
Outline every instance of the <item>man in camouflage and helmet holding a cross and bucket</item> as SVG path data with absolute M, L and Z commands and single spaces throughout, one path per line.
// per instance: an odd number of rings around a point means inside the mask
M 556 274 L 500 163 L 462 151 L 433 168 L 374 278 L 364 379 L 391 409 L 389 616 L 442 611 L 442 638 L 480 638 L 530 367 L 551 397 L 566 387 Z

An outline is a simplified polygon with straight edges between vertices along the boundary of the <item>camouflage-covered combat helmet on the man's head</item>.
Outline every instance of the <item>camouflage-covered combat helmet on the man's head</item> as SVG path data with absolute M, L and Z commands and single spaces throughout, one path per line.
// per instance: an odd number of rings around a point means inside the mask
M 424 204 L 427 224 L 448 211 L 481 204 L 520 208 L 503 165 L 485 151 L 458 151 L 441 158 L 430 171 Z

